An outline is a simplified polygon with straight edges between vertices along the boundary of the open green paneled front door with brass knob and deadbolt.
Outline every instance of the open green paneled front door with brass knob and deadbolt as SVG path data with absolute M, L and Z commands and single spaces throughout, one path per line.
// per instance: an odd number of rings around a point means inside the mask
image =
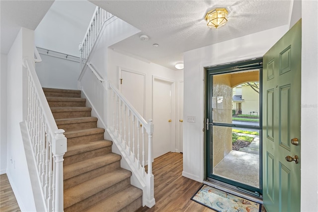
M 300 114 L 301 20 L 263 57 L 263 203 L 268 212 L 300 211 Z

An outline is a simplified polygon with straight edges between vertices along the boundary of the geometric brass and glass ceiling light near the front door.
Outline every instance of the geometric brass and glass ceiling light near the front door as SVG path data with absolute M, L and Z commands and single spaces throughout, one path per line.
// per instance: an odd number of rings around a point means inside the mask
M 228 10 L 226 8 L 215 8 L 205 15 L 207 25 L 210 28 L 218 28 L 228 22 Z

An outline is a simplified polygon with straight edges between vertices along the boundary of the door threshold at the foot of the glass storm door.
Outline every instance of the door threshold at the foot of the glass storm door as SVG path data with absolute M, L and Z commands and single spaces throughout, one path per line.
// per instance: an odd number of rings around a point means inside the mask
M 227 193 L 231 193 L 234 195 L 237 195 L 239 197 L 245 198 L 247 200 L 256 202 L 256 203 L 260 203 L 263 204 L 263 196 L 260 195 L 259 197 L 256 197 L 250 193 L 248 193 L 247 191 L 245 192 L 244 190 L 240 190 L 239 188 L 220 182 L 220 181 L 208 181 L 208 180 L 204 180 L 203 181 L 204 184 L 211 186 L 213 188 L 219 189 L 221 191 L 227 192 Z

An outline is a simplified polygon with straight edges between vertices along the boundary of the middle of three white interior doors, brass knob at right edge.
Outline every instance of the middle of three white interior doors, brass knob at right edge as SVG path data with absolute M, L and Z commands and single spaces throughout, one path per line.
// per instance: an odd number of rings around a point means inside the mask
M 171 151 L 173 83 L 154 79 L 153 81 L 153 118 L 154 118 L 154 158 Z

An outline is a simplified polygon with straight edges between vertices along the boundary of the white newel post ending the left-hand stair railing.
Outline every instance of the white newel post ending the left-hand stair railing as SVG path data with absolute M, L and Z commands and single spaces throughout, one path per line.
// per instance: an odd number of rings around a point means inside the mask
M 55 143 L 53 144 L 53 155 L 55 156 L 56 163 L 56 189 L 55 189 L 55 211 L 64 211 L 63 202 L 63 156 L 67 151 L 67 138 L 63 134 L 65 131 L 63 129 L 58 129 L 55 131 Z

